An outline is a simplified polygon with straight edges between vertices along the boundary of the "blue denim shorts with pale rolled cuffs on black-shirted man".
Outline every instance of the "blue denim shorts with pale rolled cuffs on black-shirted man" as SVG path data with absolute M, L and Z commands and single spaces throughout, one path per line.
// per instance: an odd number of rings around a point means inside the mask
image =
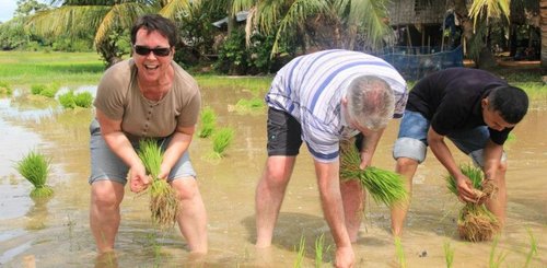
M 393 148 L 393 158 L 409 158 L 422 163 L 428 147 L 430 121 L 420 113 L 405 110 L 400 121 L 397 141 Z M 484 149 L 490 139 L 487 126 L 459 131 L 446 136 L 462 152 L 469 155 L 477 166 L 484 166 Z M 507 160 L 503 152 L 502 161 Z

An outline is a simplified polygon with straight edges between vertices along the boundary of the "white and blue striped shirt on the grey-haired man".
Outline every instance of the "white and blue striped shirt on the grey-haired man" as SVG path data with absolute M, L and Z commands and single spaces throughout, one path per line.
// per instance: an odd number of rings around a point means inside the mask
M 360 75 L 385 80 L 395 94 L 394 117 L 403 115 L 408 94 L 397 70 L 374 56 L 341 49 L 291 60 L 274 79 L 266 103 L 300 121 L 302 140 L 310 152 L 317 161 L 331 162 L 338 158 L 342 132 L 348 132 L 340 113 L 341 98 L 351 81 Z

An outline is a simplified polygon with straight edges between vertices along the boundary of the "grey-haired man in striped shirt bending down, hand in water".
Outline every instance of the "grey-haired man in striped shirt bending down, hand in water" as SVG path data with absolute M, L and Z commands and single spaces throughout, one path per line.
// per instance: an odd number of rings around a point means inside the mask
M 339 182 L 339 142 L 361 136 L 361 167 L 370 165 L 388 120 L 400 117 L 406 82 L 389 63 L 357 51 L 324 50 L 298 57 L 279 70 L 266 95 L 268 160 L 256 188 L 257 247 L 268 247 L 295 158 L 305 141 L 314 158 L 336 264 L 354 261 L 363 191 Z

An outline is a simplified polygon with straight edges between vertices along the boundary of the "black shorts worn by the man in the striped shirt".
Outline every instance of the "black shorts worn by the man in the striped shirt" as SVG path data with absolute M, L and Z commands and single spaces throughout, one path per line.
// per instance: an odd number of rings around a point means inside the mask
M 268 156 L 286 155 L 294 156 L 299 154 L 302 145 L 302 127 L 300 123 L 289 113 L 269 108 L 268 109 Z M 361 150 L 364 137 L 362 133 L 350 139 L 356 147 Z

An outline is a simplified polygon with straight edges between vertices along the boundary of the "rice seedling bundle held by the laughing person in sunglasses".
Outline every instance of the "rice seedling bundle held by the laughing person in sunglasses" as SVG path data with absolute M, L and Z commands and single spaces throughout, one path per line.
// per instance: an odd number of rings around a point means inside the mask
M 167 180 L 158 177 L 163 159 L 158 141 L 153 139 L 140 140 L 138 154 L 152 179 L 150 186 L 152 221 L 161 228 L 173 226 L 178 213 L 178 199 Z

